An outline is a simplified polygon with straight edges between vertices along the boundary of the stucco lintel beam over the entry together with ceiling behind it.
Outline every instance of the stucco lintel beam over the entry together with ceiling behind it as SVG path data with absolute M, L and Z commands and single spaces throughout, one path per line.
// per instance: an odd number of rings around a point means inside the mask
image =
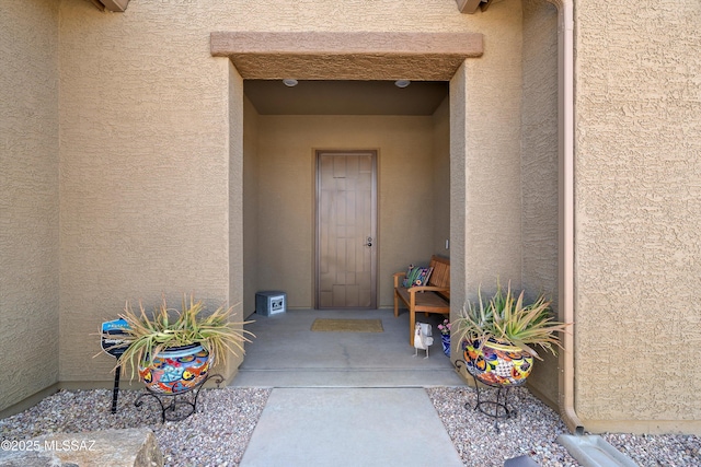
M 231 60 L 263 115 L 432 115 L 484 44 L 480 33 L 214 32 L 210 51 Z

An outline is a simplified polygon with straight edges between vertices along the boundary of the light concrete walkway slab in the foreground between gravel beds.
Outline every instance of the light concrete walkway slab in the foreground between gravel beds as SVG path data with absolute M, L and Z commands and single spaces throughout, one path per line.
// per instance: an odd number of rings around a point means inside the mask
M 462 467 L 423 388 L 273 389 L 241 467 Z

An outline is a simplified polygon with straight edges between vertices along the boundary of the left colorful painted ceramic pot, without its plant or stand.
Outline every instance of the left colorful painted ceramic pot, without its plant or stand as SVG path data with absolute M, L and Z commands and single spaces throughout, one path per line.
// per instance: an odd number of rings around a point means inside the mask
M 139 377 L 153 393 L 179 394 L 197 387 L 214 364 L 199 345 L 162 350 L 150 366 L 139 365 Z

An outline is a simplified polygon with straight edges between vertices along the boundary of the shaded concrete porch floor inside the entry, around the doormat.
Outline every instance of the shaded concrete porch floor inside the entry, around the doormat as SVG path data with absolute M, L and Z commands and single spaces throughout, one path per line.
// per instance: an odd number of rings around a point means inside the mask
M 315 318 L 381 319 L 383 332 L 318 332 Z M 434 345 L 425 352 L 409 345 L 409 313 L 392 310 L 291 310 L 273 316 L 251 315 L 255 334 L 232 386 L 266 387 L 429 387 L 464 382 L 443 353 L 440 315 L 418 315 L 430 323 Z

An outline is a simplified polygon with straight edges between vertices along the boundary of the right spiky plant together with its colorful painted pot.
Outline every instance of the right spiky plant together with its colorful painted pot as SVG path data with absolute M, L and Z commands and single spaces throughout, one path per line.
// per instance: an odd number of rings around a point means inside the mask
M 489 300 L 478 290 L 476 303 L 469 302 L 453 322 L 461 342 L 468 372 L 482 383 L 518 386 L 526 382 L 533 358 L 542 360 L 533 347 L 555 354 L 559 332 L 567 324 L 555 320 L 551 302 L 541 293 L 535 302 L 525 303 L 510 282 L 504 291 L 497 281 L 496 293 Z

